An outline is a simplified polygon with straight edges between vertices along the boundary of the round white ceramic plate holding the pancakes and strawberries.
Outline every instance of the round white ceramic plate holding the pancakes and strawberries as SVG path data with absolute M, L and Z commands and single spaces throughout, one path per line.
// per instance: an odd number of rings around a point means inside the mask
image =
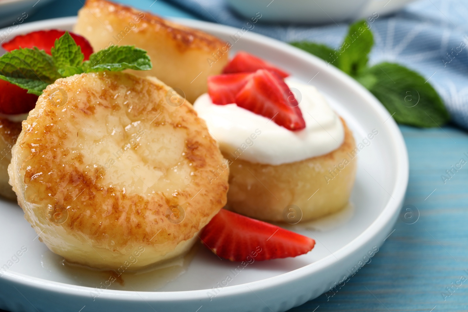
M 71 29 L 75 21 L 69 17 L 24 24 L 21 32 Z M 373 129 L 378 131 L 358 153 L 350 207 L 293 228 L 316 240 L 308 254 L 254 262 L 236 274 L 238 263 L 221 261 L 200 246 L 170 268 L 130 274 L 124 276 L 124 285 L 114 282 L 98 291 L 96 287 L 106 284 L 109 273 L 61 265 L 60 258 L 39 242 L 20 207 L 1 201 L 0 268 L 6 264 L 8 270 L 0 277 L 0 308 L 13 312 L 78 312 L 84 306 L 83 312 L 285 311 L 318 297 L 355 272 L 393 230 L 408 183 L 408 156 L 401 132 L 372 94 L 335 67 L 288 44 L 251 32 L 234 43 L 230 36 L 238 29 L 176 21 L 229 40 L 232 52 L 254 53 L 318 87 L 348 122 L 358 143 Z M 21 248 L 27 251 L 15 256 Z M 228 275 L 232 281 L 222 287 Z

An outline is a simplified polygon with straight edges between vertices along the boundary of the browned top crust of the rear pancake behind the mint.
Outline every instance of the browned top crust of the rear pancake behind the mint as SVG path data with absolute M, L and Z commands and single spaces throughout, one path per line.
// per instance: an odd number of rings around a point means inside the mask
M 140 13 L 142 13 L 142 11 L 115 2 L 107 0 L 87 0 L 85 2 L 85 7 L 91 12 L 94 10 L 98 12 L 111 12 L 122 20 L 141 19 L 142 23 L 140 22 L 141 25 L 139 28 L 151 28 L 151 30 L 155 32 L 166 31 L 177 43 L 177 47 L 180 51 L 194 48 L 212 51 L 226 46 L 226 42 L 203 31 L 170 22 L 150 12 L 143 12 L 144 16 L 141 17 Z

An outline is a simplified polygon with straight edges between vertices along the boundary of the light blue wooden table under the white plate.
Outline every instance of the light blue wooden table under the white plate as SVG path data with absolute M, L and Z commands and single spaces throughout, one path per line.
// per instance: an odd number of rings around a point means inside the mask
M 76 15 L 82 1 L 55 1 L 28 22 Z M 162 0 L 118 2 L 197 18 Z M 450 126 L 400 129 L 410 165 L 405 204 L 417 208 L 419 219 L 411 225 L 399 220 L 372 262 L 333 297 L 322 295 L 291 311 L 468 311 L 468 164 L 445 184 L 441 178 L 461 158 L 468 160 L 468 135 Z

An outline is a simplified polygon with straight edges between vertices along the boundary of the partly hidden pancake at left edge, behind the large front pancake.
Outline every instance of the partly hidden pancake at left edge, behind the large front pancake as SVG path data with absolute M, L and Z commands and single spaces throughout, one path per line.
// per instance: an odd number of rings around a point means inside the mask
M 11 149 L 21 132 L 21 122 L 0 118 L 0 195 L 8 199 L 16 199 L 15 192 L 8 184 L 8 165 L 11 161 Z

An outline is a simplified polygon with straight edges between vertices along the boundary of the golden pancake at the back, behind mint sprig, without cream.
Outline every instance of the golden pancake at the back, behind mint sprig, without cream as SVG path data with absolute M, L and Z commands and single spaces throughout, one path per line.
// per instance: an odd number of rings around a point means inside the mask
M 73 31 L 85 36 L 95 51 L 110 44 L 148 51 L 153 69 L 133 73 L 154 75 L 181 89 L 190 102 L 206 92 L 206 78 L 227 64 L 229 46 L 217 37 L 110 1 L 87 0 Z

